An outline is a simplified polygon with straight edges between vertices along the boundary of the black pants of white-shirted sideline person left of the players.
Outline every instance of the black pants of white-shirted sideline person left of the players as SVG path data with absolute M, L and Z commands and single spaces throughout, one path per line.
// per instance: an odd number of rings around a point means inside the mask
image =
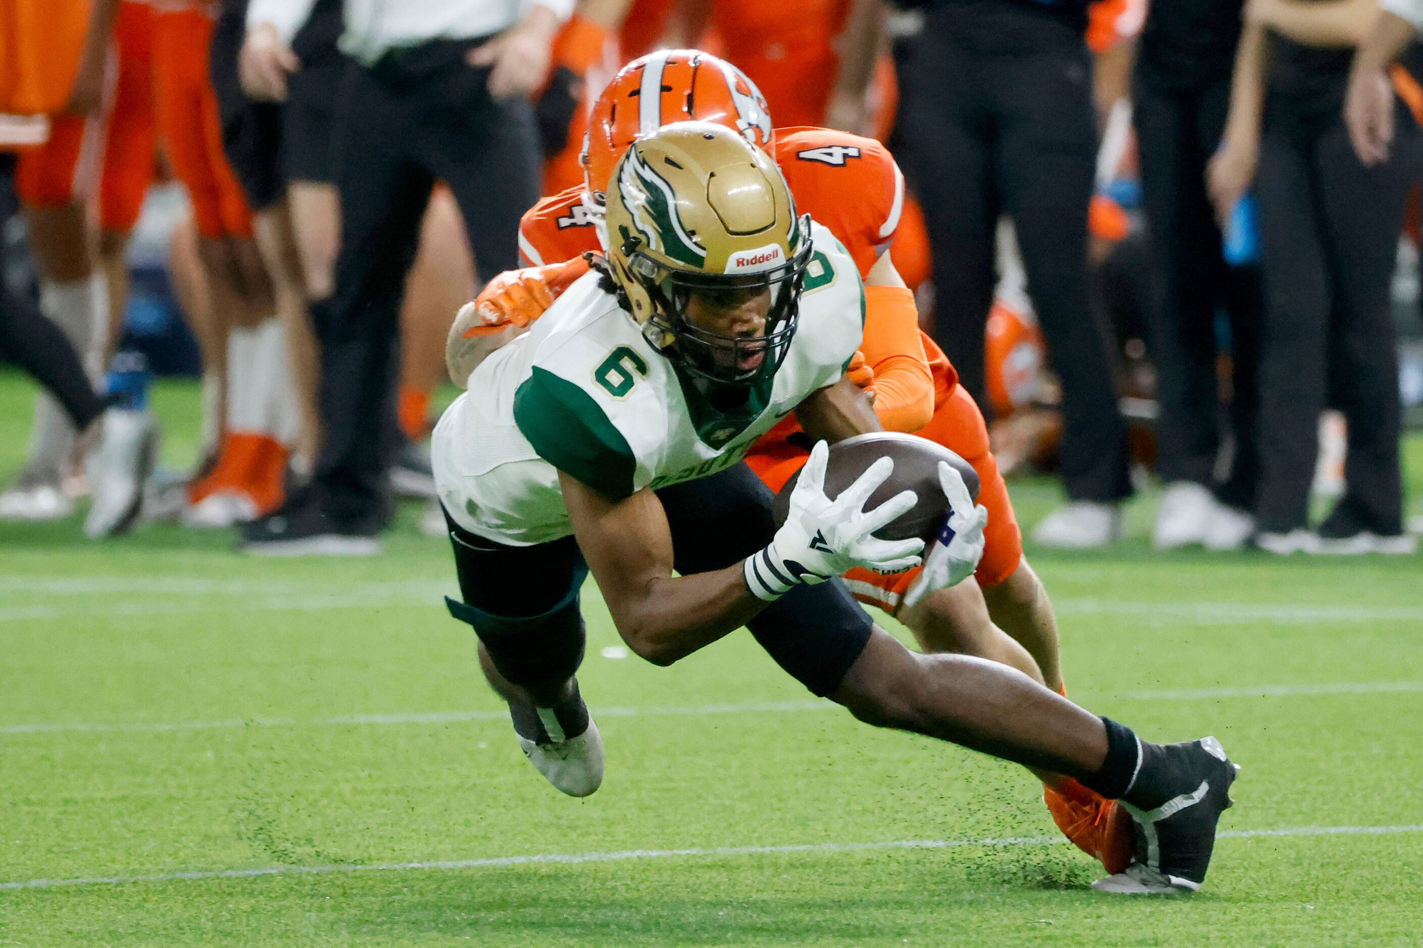
M 490 71 L 464 61 L 474 45 L 433 41 L 346 71 L 336 293 L 312 307 L 326 432 L 313 486 L 342 526 L 379 526 L 386 513 L 398 310 L 430 189 L 450 185 L 484 274 L 518 266 L 519 216 L 538 199 L 532 109 L 490 97 Z

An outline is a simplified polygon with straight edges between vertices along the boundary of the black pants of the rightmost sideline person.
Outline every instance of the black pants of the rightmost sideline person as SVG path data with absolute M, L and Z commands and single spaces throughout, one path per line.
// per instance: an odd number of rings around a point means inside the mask
M 1266 122 L 1255 190 L 1265 277 L 1259 529 L 1306 524 L 1319 412 L 1349 422 L 1343 506 L 1402 530 L 1399 361 L 1389 284 L 1419 131 L 1403 109 L 1389 161 L 1365 168 L 1343 121 L 1291 135 Z

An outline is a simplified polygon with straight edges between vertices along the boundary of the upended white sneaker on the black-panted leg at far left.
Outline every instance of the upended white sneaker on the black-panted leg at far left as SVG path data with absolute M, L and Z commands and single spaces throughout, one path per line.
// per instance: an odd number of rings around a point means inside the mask
M 110 408 L 100 419 L 98 445 L 84 460 L 91 505 L 90 539 L 128 533 L 144 506 L 144 486 L 158 455 L 158 426 L 147 411 Z

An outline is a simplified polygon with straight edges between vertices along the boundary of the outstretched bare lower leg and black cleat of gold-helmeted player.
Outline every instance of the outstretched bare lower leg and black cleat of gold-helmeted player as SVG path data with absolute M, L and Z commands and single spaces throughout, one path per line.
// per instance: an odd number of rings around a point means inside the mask
M 830 696 L 867 723 L 1063 773 L 1121 800 L 1137 823 L 1134 863 L 1099 891 L 1185 893 L 1205 880 L 1238 769 L 1214 738 L 1154 745 L 1019 671 L 916 655 L 879 628 Z

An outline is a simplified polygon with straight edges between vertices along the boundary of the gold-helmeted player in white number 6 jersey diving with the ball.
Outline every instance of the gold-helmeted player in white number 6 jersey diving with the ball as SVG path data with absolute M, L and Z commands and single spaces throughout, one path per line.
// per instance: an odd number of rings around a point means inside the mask
M 922 542 L 872 536 L 914 505 L 904 492 L 864 509 L 888 459 L 824 493 L 824 442 L 879 428 L 842 375 L 864 296 L 830 232 L 795 217 L 774 162 L 720 125 L 663 126 L 619 161 L 606 223 L 595 271 L 480 365 L 434 438 L 462 598 L 450 611 L 478 634 L 539 772 L 571 796 L 602 780 L 575 678 L 591 570 L 647 661 L 744 625 L 861 721 L 1121 799 L 1143 827 L 1140 858 L 1103 888 L 1198 888 L 1235 777 L 1212 738 L 1153 745 L 1005 665 L 911 652 L 837 578 L 908 569 Z M 820 443 L 777 529 L 740 458 L 791 411 Z

